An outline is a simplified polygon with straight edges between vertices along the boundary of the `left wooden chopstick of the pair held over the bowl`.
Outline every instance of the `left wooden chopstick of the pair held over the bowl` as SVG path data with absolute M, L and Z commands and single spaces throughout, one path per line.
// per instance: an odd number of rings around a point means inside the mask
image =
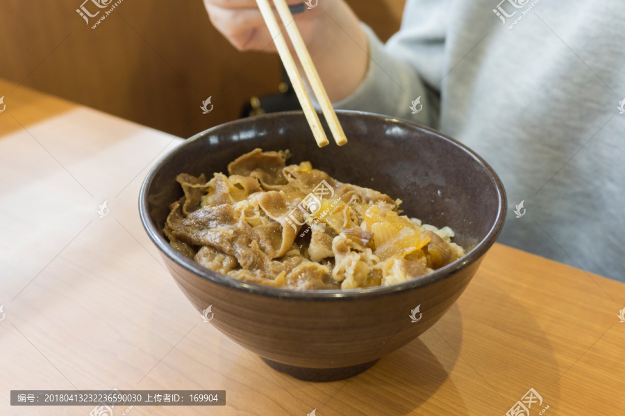
M 256 0 L 256 3 L 258 4 L 258 8 L 260 8 L 260 13 L 263 15 L 263 19 L 265 19 L 267 28 L 269 28 L 269 33 L 274 39 L 276 49 L 278 49 L 278 55 L 280 55 L 289 79 L 291 80 L 297 99 L 299 99 L 304 115 L 306 115 L 310 129 L 313 131 L 317 145 L 319 147 L 324 147 L 326 144 L 330 144 L 330 142 L 328 142 L 328 138 L 326 137 L 326 133 L 324 132 L 321 122 L 319 121 L 317 112 L 315 111 L 315 108 L 313 108 L 313 102 L 310 101 L 310 97 L 308 97 L 306 87 L 301 80 L 295 61 L 291 56 L 291 52 L 282 35 L 278 21 L 274 16 L 274 10 L 272 9 L 271 4 L 269 4 L 269 0 Z

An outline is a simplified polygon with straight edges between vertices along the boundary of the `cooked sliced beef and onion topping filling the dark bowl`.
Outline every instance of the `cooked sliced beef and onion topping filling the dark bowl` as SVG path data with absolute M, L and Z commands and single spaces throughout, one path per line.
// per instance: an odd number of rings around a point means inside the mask
M 341 183 L 289 151 L 255 149 L 228 176 L 181 173 L 163 233 L 199 265 L 299 290 L 358 289 L 423 276 L 464 256 L 441 229 L 401 215 L 401 200 Z

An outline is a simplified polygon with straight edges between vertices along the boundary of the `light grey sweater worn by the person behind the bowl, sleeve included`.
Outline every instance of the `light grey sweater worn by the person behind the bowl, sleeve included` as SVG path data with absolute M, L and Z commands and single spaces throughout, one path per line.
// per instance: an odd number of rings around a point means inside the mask
M 366 28 L 367 75 L 336 108 L 467 144 L 508 192 L 499 242 L 625 281 L 624 19 L 623 0 L 408 0 L 387 44 Z

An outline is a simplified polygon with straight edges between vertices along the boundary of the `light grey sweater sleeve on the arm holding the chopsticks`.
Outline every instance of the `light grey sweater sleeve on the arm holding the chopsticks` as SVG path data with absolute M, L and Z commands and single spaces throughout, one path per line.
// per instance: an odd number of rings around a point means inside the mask
M 335 108 L 437 127 L 446 29 L 442 3 L 446 2 L 408 0 L 401 29 L 387 44 L 363 24 L 369 38 L 369 67 L 356 90 L 334 103 Z M 412 105 L 415 100 L 419 102 Z

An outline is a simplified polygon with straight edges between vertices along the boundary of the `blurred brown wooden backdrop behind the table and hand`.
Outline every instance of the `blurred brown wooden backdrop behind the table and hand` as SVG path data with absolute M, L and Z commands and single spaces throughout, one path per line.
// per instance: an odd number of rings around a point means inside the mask
M 348 3 L 387 40 L 405 0 Z M 0 78 L 183 138 L 249 113 L 254 97 L 281 105 L 278 57 L 231 47 L 201 0 L 123 0 L 95 29 L 100 16 L 86 24 L 82 4 L 3 0 Z M 214 108 L 203 115 L 208 97 Z

